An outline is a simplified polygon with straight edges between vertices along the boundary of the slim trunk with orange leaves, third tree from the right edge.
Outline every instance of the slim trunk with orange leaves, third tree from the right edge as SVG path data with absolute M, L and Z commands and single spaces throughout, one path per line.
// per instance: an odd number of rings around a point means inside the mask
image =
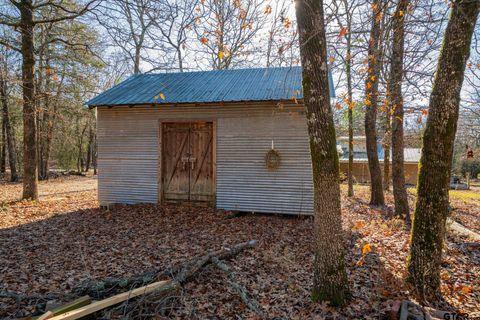
M 378 106 L 378 76 L 380 73 L 380 23 L 383 4 L 380 0 L 372 3 L 372 29 L 368 41 L 368 72 L 365 82 L 365 136 L 367 143 L 368 168 L 370 170 L 370 204 L 384 205 L 382 187 L 382 171 L 378 161 L 377 150 L 377 106 Z

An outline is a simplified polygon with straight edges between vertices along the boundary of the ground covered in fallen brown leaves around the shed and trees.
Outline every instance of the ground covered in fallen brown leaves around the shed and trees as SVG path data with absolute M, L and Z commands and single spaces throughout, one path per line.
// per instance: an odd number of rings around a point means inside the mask
M 368 187 L 356 186 L 342 211 L 352 298 L 333 309 L 310 300 L 311 217 L 245 214 L 157 205 L 98 207 L 96 180 L 63 177 L 40 183 L 39 202 L 19 201 L 20 184 L 0 184 L 0 293 L 69 292 L 86 280 L 125 277 L 185 261 L 250 239 L 256 248 L 226 263 L 269 318 L 381 319 L 395 300 L 413 299 L 405 284 L 409 232 L 388 208 L 368 206 Z M 452 218 L 480 231 L 480 190 L 452 194 Z M 415 194 L 410 192 L 413 205 Z M 480 250 L 449 235 L 442 264 L 442 309 L 480 311 Z M 368 246 L 366 246 L 368 245 Z M 369 248 L 371 250 L 365 250 Z M 363 252 L 362 252 L 363 251 Z M 0 318 L 33 308 L 0 299 Z M 171 318 L 255 319 L 214 266 L 179 294 Z

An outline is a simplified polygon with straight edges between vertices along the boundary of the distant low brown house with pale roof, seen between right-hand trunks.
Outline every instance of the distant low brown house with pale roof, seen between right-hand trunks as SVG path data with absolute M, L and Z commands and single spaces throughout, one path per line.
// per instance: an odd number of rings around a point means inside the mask
M 344 174 L 348 173 L 348 137 L 340 137 L 337 139 L 339 149 L 342 150 L 339 155 L 340 171 Z M 378 159 L 382 164 L 385 158 L 385 150 L 381 143 L 377 144 Z M 405 166 L 405 182 L 407 184 L 417 184 L 418 163 L 420 162 L 420 148 L 405 148 L 404 152 Z M 390 161 L 392 157 L 390 155 Z M 391 171 L 390 171 L 391 172 Z M 368 169 L 366 138 L 364 136 L 353 137 L 353 177 L 358 183 L 370 182 L 370 171 Z

